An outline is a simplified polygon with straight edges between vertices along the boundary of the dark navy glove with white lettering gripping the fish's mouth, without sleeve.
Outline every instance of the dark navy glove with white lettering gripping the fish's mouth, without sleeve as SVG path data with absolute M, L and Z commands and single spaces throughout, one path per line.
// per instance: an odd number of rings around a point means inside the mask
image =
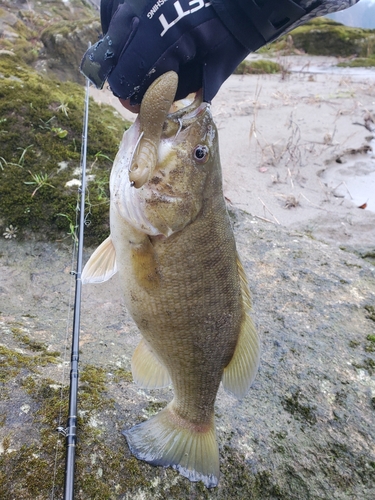
M 179 75 L 176 100 L 203 88 L 210 102 L 249 52 L 204 0 L 102 0 L 101 20 L 105 35 L 81 71 L 131 104 L 170 70 Z

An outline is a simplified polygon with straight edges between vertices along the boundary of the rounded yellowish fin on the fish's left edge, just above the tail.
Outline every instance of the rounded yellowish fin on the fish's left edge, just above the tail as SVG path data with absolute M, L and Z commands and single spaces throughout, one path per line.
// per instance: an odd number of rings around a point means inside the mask
M 171 383 L 167 369 L 156 358 L 145 340 L 141 340 L 134 351 L 131 365 L 135 383 L 144 389 L 161 389 Z

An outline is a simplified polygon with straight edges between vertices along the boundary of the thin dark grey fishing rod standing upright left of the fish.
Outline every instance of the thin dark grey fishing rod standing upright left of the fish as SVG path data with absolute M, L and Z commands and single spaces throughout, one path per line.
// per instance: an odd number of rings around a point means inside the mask
M 85 191 L 86 191 L 86 158 L 87 158 L 87 131 L 89 118 L 89 87 L 90 82 L 86 78 L 85 110 L 82 133 L 81 149 L 81 188 L 79 202 L 79 223 L 78 223 L 78 250 L 75 275 L 75 296 L 74 296 L 74 316 L 73 316 L 73 336 L 70 362 L 70 387 L 69 387 L 69 411 L 65 428 L 59 427 L 57 430 L 65 436 L 66 457 L 65 457 L 65 482 L 64 500 L 74 499 L 74 468 L 75 453 L 77 444 L 77 394 L 78 394 L 78 361 L 79 361 L 79 332 L 81 320 L 81 291 L 82 291 L 82 256 L 83 238 L 85 227 Z

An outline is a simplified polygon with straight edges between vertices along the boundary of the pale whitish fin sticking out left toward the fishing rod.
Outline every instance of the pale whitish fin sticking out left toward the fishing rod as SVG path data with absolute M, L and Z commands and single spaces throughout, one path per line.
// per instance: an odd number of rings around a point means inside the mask
M 103 283 L 117 273 L 116 251 L 110 236 L 91 255 L 82 272 L 82 283 Z

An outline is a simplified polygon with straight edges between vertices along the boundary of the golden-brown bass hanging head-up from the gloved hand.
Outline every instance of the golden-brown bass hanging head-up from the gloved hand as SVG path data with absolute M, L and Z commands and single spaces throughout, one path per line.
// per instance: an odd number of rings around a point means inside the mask
M 149 90 L 157 92 L 157 85 Z M 164 409 L 123 431 L 130 451 L 213 488 L 220 477 L 216 395 L 220 383 L 237 398 L 247 394 L 260 339 L 223 196 L 210 105 L 198 96 L 161 113 L 156 161 L 137 188 L 129 172 L 139 153 L 143 102 L 110 176 L 110 236 L 81 279 L 99 283 L 119 274 L 141 333 L 131 361 L 134 381 L 146 389 L 173 386 Z

